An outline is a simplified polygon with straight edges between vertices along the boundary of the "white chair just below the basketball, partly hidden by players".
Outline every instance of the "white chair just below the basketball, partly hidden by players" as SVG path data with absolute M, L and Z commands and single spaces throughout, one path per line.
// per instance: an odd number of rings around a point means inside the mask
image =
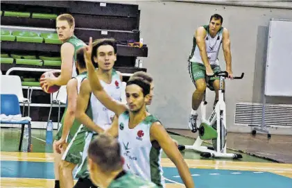
M 54 104 L 58 104 L 58 129 L 59 129 L 59 123 L 60 123 L 60 108 L 62 104 L 66 104 L 67 103 L 67 88 L 66 85 L 62 85 L 60 87 L 60 89 L 58 90 L 58 92 L 54 92 L 53 94 L 51 94 L 51 108 L 50 108 L 50 112 L 49 112 L 49 118 L 48 118 L 48 123 L 50 121 L 50 117 L 51 117 L 51 111 L 52 111 L 52 107 Z

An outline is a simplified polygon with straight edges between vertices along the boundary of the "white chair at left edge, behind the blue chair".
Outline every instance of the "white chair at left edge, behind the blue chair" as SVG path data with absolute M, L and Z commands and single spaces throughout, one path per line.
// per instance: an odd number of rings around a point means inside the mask
M 18 98 L 19 103 L 23 103 L 23 112 L 22 116 L 24 116 L 24 109 L 26 103 L 28 104 L 28 117 L 30 116 L 30 99 L 24 98 L 24 94 L 22 92 L 22 80 L 19 76 L 16 75 L 1 75 L 1 94 L 15 94 Z

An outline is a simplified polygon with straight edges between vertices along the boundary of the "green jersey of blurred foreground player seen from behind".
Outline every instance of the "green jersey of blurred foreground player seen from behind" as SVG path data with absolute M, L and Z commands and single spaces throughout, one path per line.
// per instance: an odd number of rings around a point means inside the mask
M 141 177 L 132 173 L 125 173 L 110 183 L 108 188 L 158 188 L 153 182 L 143 180 Z

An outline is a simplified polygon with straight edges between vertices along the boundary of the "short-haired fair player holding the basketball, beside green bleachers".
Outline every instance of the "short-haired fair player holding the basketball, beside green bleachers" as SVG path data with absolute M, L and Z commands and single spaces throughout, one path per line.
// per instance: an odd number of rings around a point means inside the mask
M 76 72 L 76 51 L 81 47 L 85 46 L 82 40 L 79 40 L 74 35 L 74 17 L 69 14 L 59 15 L 56 19 L 56 29 L 58 33 L 58 38 L 62 42 L 61 46 L 61 74 L 58 78 L 40 78 L 40 84 L 42 88 L 46 90 L 51 85 L 67 85 L 68 81 L 77 75 Z M 60 137 L 58 137 L 60 139 Z M 63 139 L 59 142 L 64 146 L 65 140 Z M 65 147 L 63 147 L 65 148 Z M 62 155 L 57 152 L 55 144 L 53 144 L 54 158 L 55 158 L 55 187 L 60 187 L 60 173 L 59 167 Z M 59 151 L 60 152 L 60 151 Z

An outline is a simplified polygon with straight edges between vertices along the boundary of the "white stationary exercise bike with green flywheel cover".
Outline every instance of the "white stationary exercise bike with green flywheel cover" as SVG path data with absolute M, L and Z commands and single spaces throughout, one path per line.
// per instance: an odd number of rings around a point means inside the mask
M 219 71 L 213 76 L 209 76 L 210 79 L 214 79 L 214 76 L 219 77 L 220 86 L 218 90 L 218 102 L 216 103 L 212 114 L 209 119 L 206 120 L 206 91 L 204 92 L 203 101 L 201 103 L 201 123 L 199 128 L 193 128 L 191 130 L 198 135 L 196 142 L 192 146 L 178 145 L 178 149 L 183 151 L 184 149 L 193 149 L 200 152 L 201 157 L 227 157 L 233 159 L 242 158 L 240 154 L 226 153 L 226 105 L 224 101 L 225 90 L 223 89 L 223 83 L 225 78 L 228 77 L 227 71 Z M 242 79 L 244 73 L 241 76 L 234 77 L 234 79 Z M 213 147 L 201 146 L 203 140 L 212 139 Z

